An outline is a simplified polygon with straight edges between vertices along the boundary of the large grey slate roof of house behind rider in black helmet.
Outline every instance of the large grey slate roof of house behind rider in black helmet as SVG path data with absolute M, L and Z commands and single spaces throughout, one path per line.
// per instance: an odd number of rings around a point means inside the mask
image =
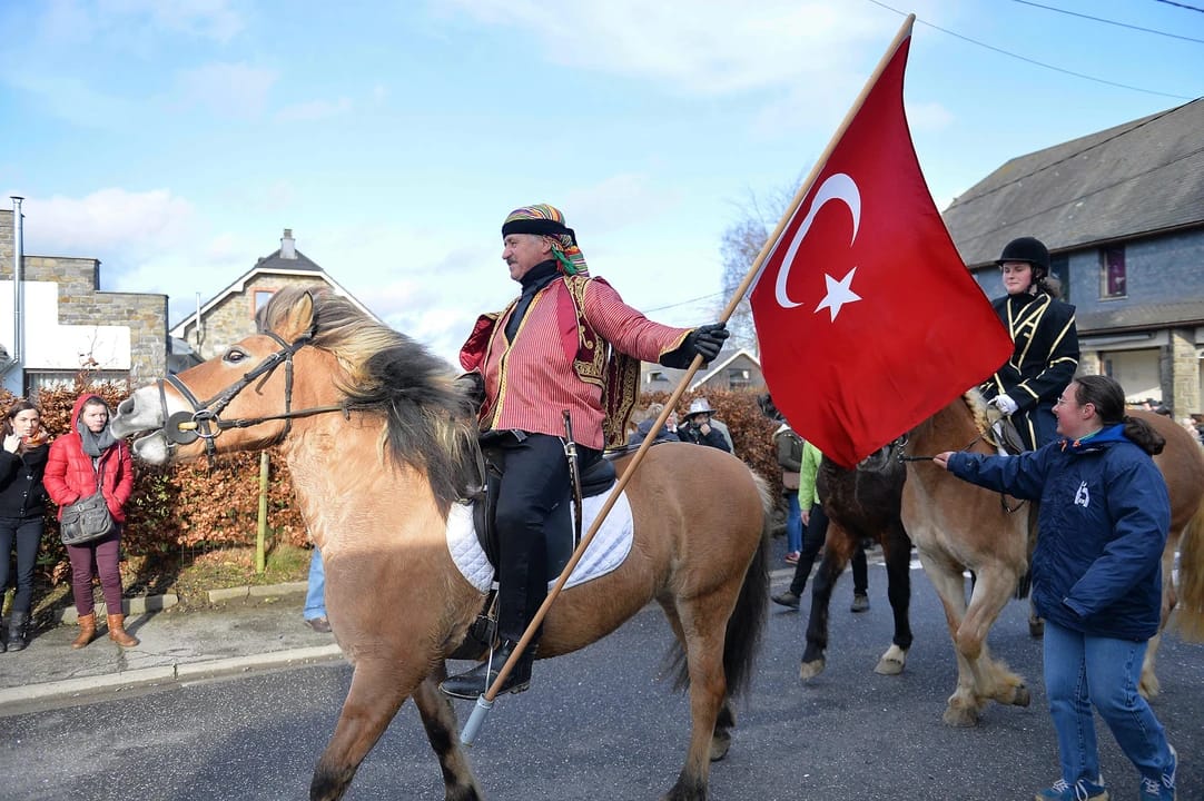
M 1011 159 L 944 214 L 962 260 L 1017 236 L 1051 252 L 1204 225 L 1204 98 Z

